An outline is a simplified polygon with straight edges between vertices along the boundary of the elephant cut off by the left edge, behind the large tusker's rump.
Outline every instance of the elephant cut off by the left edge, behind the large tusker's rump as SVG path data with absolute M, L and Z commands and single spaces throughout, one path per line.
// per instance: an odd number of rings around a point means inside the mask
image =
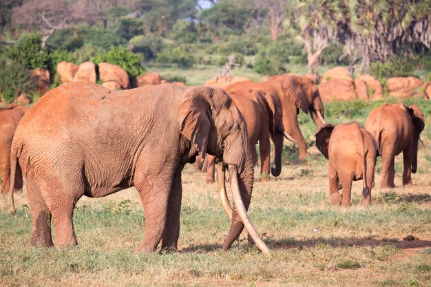
M 0 108 L 0 171 L 1 171 L 1 192 L 8 193 L 10 189 L 10 146 L 15 129 L 28 107 L 10 104 Z M 23 176 L 21 167 L 17 164 L 15 173 L 14 188 L 23 188 Z

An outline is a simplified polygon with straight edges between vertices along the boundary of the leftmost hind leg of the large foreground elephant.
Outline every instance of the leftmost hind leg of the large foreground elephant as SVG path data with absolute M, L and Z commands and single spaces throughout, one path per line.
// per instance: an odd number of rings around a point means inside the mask
M 32 235 L 30 244 L 35 247 L 52 247 L 51 213 L 33 184 L 27 184 L 28 204 L 32 215 Z

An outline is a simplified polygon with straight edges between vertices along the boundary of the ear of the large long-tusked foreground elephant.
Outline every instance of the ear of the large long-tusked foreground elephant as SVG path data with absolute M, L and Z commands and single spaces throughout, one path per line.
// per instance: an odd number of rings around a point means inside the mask
M 181 134 L 193 142 L 202 160 L 207 154 L 209 131 L 211 129 L 211 87 L 191 87 L 182 96 L 178 106 L 178 122 Z

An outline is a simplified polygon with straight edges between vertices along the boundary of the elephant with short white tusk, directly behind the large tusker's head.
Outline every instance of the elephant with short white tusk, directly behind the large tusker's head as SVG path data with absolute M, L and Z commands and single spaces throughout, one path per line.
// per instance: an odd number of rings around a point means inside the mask
M 262 180 L 269 180 L 271 142 L 275 145 L 275 169 L 271 168 L 273 176 L 280 176 L 282 171 L 283 140 L 286 138 L 295 142 L 291 136 L 284 132 L 282 109 L 280 101 L 271 94 L 252 89 L 229 92 L 233 103 L 238 107 L 247 126 L 253 162 L 257 163 L 256 144 L 260 149 L 260 173 Z M 213 156 L 205 159 L 207 168 L 207 182 L 214 182 L 215 160 Z M 205 167 L 205 163 L 203 164 Z

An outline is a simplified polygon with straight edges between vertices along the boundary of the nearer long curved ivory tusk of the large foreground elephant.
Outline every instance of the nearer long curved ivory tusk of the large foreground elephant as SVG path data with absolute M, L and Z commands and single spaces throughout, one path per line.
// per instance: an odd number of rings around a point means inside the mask
M 235 204 L 235 209 L 238 211 L 238 215 L 240 215 L 242 223 L 244 223 L 246 230 L 249 232 L 249 235 L 251 235 L 251 238 L 253 238 L 262 253 L 269 255 L 270 252 L 268 246 L 266 246 L 262 237 L 257 233 L 255 226 L 253 226 L 253 222 L 251 222 L 250 217 L 247 214 L 244 202 L 242 202 L 240 186 L 238 184 L 238 170 L 233 165 L 229 165 L 229 176 L 231 177 L 233 203 Z

